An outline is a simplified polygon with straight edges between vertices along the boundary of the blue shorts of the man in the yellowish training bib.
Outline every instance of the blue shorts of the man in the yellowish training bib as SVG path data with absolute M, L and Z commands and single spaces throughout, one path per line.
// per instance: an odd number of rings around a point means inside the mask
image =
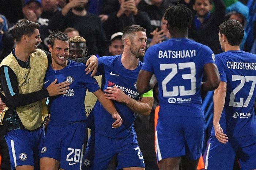
M 35 131 L 16 129 L 4 135 L 12 170 L 22 165 L 31 165 L 34 166 L 34 170 L 39 170 L 39 152 L 44 136 L 42 127 Z

